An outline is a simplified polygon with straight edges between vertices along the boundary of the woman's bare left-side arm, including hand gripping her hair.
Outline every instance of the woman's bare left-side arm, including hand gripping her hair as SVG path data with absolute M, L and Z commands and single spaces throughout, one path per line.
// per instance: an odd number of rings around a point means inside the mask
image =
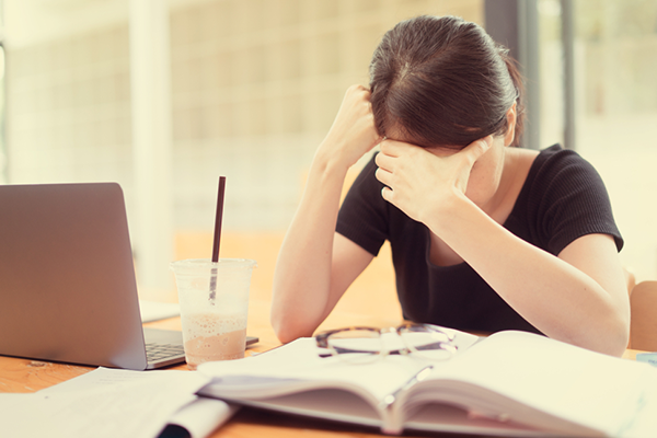
M 272 324 L 284 343 L 312 335 L 373 257 L 335 234 L 335 224 L 347 170 L 379 140 L 369 92 L 349 88 L 314 155 L 276 263 Z

